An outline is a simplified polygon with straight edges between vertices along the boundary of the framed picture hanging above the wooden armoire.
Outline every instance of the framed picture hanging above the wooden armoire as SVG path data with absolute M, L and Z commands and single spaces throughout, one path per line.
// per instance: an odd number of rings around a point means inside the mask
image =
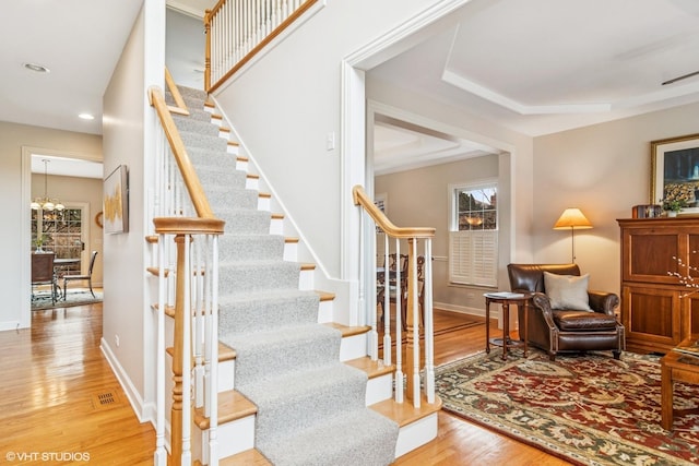
M 651 142 L 650 204 L 679 201 L 699 212 L 699 133 Z

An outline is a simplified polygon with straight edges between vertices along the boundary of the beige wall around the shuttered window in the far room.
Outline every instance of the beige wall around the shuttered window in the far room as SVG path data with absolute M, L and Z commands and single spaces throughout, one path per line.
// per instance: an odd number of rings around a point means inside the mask
M 401 227 L 436 228 L 433 241 L 433 289 L 437 308 L 472 313 L 484 308 L 485 289 L 449 284 L 448 187 L 498 178 L 498 159 L 499 156 L 489 155 L 383 175 L 375 179 L 376 194 L 387 194 L 391 222 Z M 503 239 L 499 241 L 500 246 L 507 236 L 506 231 L 501 231 Z

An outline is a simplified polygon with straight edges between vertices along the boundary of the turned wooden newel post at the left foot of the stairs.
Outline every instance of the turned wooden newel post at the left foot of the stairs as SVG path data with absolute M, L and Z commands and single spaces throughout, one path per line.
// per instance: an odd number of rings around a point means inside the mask
M 187 273 L 185 272 L 185 241 L 187 235 L 177 235 L 177 288 L 175 296 L 175 347 L 173 348 L 173 407 L 170 410 L 170 459 L 173 465 L 181 465 L 182 459 L 182 373 L 185 335 L 185 287 Z

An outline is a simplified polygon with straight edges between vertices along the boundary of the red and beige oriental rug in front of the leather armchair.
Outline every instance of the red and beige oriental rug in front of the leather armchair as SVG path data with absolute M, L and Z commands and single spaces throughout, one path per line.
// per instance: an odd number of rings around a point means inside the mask
M 443 409 L 579 465 L 699 464 L 699 386 L 675 383 L 661 426 L 657 356 L 557 356 L 500 349 L 436 368 Z

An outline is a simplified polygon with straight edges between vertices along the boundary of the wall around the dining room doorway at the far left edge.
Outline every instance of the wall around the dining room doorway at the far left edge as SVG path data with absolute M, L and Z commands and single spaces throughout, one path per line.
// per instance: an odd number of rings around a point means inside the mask
M 0 331 L 31 325 L 32 248 L 28 240 L 22 243 L 22 232 L 29 228 L 29 211 L 21 201 L 24 194 L 28 203 L 31 178 L 23 178 L 23 146 L 102 155 L 98 135 L 0 122 L 0 205 L 5 217 L 5 226 L 0 228 L 0 258 L 4 264 L 13 264 L 0 267 L 0 295 L 4 299 L 0 307 Z M 26 236 L 28 238 L 28 234 Z

